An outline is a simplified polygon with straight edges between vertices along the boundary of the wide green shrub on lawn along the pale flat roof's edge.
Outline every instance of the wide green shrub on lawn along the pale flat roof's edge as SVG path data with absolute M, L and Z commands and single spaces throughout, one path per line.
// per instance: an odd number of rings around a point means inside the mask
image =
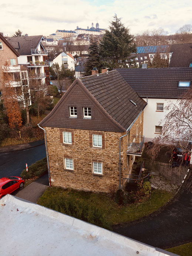
M 87 204 L 86 201 L 80 201 L 74 196 L 68 197 L 65 194 L 54 195 L 48 198 L 43 205 L 102 228 L 110 229 L 110 225 L 100 209 Z

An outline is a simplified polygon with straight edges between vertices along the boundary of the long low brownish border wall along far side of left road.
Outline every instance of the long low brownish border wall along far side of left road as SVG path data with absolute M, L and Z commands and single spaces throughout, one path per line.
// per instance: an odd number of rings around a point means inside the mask
M 28 149 L 28 148 L 34 148 L 36 146 L 40 146 L 45 144 L 44 139 L 41 139 L 39 141 L 33 141 L 25 144 L 18 144 L 14 146 L 6 146 L 4 148 L 0 148 L 0 153 L 9 153 L 13 151 Z

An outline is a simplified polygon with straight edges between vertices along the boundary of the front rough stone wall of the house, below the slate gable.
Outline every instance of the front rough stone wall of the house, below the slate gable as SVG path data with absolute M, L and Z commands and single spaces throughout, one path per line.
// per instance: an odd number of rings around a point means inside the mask
M 87 191 L 109 192 L 111 185 L 114 184 L 118 189 L 119 137 L 125 133 L 105 131 L 105 148 L 102 149 L 90 147 L 88 130 L 74 129 L 74 144 L 69 145 L 60 142 L 59 128 L 44 128 L 47 133 L 52 185 Z M 64 169 L 64 157 L 73 158 L 73 171 Z M 102 162 L 103 175 L 92 173 L 92 160 Z

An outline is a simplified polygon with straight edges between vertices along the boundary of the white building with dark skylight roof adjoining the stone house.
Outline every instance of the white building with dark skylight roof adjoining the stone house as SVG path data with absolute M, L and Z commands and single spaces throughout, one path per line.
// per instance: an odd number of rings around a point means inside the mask
M 144 109 L 145 141 L 161 134 L 166 105 L 176 104 L 191 86 L 192 68 L 119 68 L 125 81 L 148 104 Z M 162 121 L 162 124 L 160 122 Z

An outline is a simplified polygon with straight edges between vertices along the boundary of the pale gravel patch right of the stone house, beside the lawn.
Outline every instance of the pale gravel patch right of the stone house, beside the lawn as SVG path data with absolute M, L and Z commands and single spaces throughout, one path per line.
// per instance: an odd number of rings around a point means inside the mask
M 171 184 L 170 181 L 159 176 L 151 178 L 151 187 L 155 189 L 163 189 L 175 193 L 178 189 L 177 185 Z

